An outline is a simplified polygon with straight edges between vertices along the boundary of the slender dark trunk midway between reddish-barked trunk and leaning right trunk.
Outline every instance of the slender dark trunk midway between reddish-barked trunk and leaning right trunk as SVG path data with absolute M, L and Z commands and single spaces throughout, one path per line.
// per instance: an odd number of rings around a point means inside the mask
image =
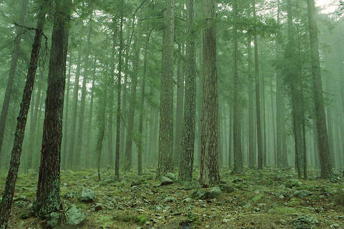
M 253 17 L 257 20 L 255 0 L 252 0 Z M 256 118 L 257 118 L 257 146 L 258 146 L 258 169 L 263 169 L 263 142 L 261 139 L 261 114 L 260 114 L 260 86 L 259 86 L 259 57 L 258 57 L 258 36 L 253 36 L 255 43 L 255 89 L 256 89 Z

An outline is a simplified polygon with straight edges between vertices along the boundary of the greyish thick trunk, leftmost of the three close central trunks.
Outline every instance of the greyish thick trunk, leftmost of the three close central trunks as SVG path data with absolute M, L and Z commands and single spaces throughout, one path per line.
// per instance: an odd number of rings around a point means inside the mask
M 174 0 L 165 0 L 157 177 L 173 171 Z

